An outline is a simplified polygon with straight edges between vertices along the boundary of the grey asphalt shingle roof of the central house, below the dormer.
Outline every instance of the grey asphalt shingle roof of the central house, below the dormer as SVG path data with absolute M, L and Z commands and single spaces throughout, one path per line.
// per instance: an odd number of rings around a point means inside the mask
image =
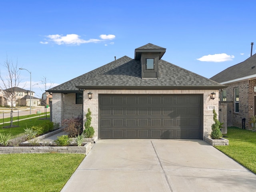
M 129 87 L 136 87 L 137 89 L 143 89 L 145 87 L 152 89 L 163 87 L 166 87 L 166 89 L 186 89 L 191 87 L 193 89 L 199 89 L 204 87 L 204 89 L 211 89 L 223 86 L 164 60 L 159 60 L 158 66 L 159 78 L 142 78 L 140 61 L 123 56 L 47 91 L 78 92 L 77 87 L 97 89 L 97 87 L 104 86 L 109 87 L 108 89 L 110 87 L 113 89 L 115 87 L 127 89 Z

